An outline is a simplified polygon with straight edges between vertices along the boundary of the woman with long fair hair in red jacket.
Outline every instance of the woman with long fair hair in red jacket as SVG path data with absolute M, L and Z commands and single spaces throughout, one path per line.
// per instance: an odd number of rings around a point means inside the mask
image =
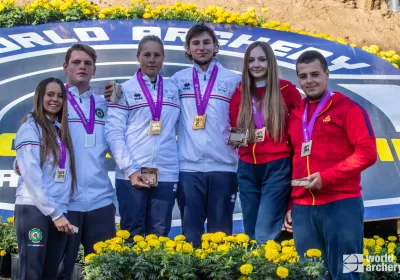
M 237 175 L 244 230 L 260 244 L 281 232 L 291 190 L 286 121 L 300 101 L 296 87 L 279 79 L 272 48 L 265 42 L 250 44 L 230 119 L 232 127 L 248 130 L 249 144 L 239 148 Z

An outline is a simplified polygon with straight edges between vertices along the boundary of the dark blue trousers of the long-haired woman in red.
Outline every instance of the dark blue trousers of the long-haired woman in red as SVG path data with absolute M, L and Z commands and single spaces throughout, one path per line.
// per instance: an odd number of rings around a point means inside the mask
M 291 159 L 263 164 L 239 161 L 238 181 L 244 232 L 263 244 L 282 230 L 290 199 Z

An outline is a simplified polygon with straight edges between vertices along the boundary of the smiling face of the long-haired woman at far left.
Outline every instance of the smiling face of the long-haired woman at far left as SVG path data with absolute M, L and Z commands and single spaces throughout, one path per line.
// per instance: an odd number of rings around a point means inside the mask
M 43 96 L 43 110 L 45 114 L 54 121 L 63 106 L 63 93 L 61 87 L 56 82 L 50 82 L 46 86 Z

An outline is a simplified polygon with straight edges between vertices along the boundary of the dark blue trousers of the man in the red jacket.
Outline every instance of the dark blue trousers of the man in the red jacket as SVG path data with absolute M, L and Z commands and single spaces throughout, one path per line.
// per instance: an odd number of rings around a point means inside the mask
M 346 271 L 343 255 L 363 254 L 364 205 L 361 198 L 317 206 L 294 204 L 292 219 L 294 243 L 301 258 L 308 249 L 319 249 L 329 271 L 327 279 L 361 278 L 360 273 L 343 273 Z

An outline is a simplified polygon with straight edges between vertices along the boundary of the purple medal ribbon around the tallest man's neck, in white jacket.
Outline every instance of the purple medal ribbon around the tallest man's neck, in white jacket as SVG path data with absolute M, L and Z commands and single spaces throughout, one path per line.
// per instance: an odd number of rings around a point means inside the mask
M 201 98 L 200 92 L 200 82 L 199 76 L 197 75 L 196 68 L 193 67 L 192 77 L 193 77 L 193 85 L 194 85 L 194 97 L 196 98 L 196 107 L 197 107 L 197 115 L 203 116 L 206 112 L 206 107 L 208 104 L 208 100 L 211 96 L 211 91 L 214 87 L 215 80 L 218 75 L 218 66 L 214 64 L 213 70 L 211 72 L 210 80 L 208 81 L 206 91 L 204 92 L 203 99 Z

